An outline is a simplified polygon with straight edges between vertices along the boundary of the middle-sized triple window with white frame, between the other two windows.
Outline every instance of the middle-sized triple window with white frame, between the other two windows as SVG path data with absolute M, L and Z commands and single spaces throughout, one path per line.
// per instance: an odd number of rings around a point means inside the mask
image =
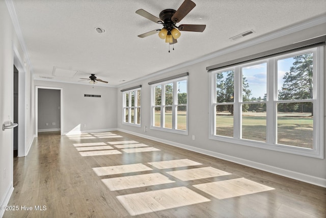
M 152 129 L 187 134 L 187 77 L 152 85 Z

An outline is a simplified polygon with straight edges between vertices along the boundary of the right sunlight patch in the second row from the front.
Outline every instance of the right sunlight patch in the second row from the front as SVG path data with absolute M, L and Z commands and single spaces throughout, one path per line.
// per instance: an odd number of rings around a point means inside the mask
M 174 176 L 182 181 L 230 175 L 230 173 L 221 171 L 220 169 L 216 169 L 211 166 L 194 169 L 184 169 L 181 171 L 171 171 L 167 172 L 167 174 L 170 174 L 171 176 Z

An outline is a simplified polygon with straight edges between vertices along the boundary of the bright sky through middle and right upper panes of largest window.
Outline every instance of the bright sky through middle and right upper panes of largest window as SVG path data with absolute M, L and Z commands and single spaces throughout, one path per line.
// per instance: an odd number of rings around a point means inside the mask
M 293 62 L 293 58 L 280 59 L 278 61 L 278 90 L 282 89 L 285 72 L 290 71 L 290 67 L 293 66 Z M 251 90 L 250 99 L 253 97 L 257 99 L 261 97 L 263 99 L 265 93 L 267 93 L 266 72 L 266 63 L 260 63 L 242 68 L 242 74 L 244 77 L 246 77 L 249 84 L 249 89 Z

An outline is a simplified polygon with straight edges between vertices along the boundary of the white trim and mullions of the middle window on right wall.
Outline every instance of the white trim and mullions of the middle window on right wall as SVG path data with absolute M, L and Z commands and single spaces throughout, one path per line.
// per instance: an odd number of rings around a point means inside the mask
M 161 124 L 161 127 L 156 127 L 153 125 L 154 123 L 154 108 L 155 108 L 155 86 L 161 86 L 161 101 L 163 101 L 165 99 L 165 85 L 166 84 L 169 84 L 169 83 L 173 83 L 173 105 L 169 105 L 172 106 L 172 116 L 175 117 L 175 114 L 176 114 L 176 108 L 177 106 L 180 106 L 177 104 L 176 102 L 176 98 L 175 96 L 177 95 L 177 90 L 176 90 L 176 84 L 179 82 L 179 81 L 184 81 L 186 80 L 187 81 L 187 104 L 185 105 L 186 108 L 187 108 L 187 117 L 186 117 L 186 130 L 179 130 L 179 129 L 176 129 L 176 123 L 175 123 L 175 118 L 172 119 L 172 129 L 170 128 L 165 128 L 164 127 L 164 116 L 161 115 L 161 120 L 160 120 L 160 124 Z M 179 77 L 177 79 L 172 79 L 172 80 L 167 80 L 167 81 L 164 81 L 164 82 L 160 82 L 160 83 L 155 83 L 155 84 L 151 84 L 151 125 L 150 125 L 150 129 L 153 129 L 153 130 L 159 130 L 159 131 L 165 131 L 165 132 L 170 132 L 170 133 L 177 133 L 177 134 L 182 134 L 182 135 L 188 135 L 188 117 L 189 117 L 189 107 L 188 107 L 188 100 L 189 100 L 189 91 L 188 91 L 188 88 L 189 85 L 188 85 L 188 76 L 185 76 L 185 77 Z M 157 105 L 158 106 L 158 105 Z M 160 105 L 160 110 L 161 110 L 161 113 L 164 112 L 164 107 L 166 107 L 165 103 L 161 103 Z

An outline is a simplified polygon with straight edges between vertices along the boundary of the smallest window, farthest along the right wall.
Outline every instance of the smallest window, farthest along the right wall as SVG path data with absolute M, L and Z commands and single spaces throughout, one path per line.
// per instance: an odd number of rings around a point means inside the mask
M 141 125 L 141 89 L 123 92 L 123 124 Z

